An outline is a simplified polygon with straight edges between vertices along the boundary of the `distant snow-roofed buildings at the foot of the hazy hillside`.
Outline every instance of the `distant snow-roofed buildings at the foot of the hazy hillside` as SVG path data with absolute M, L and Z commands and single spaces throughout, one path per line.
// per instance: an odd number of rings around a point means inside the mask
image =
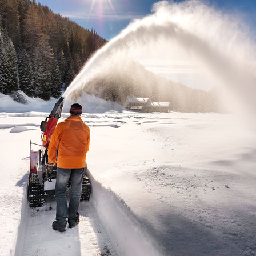
M 126 109 L 139 112 L 168 112 L 170 102 L 152 102 L 150 98 L 130 97 Z

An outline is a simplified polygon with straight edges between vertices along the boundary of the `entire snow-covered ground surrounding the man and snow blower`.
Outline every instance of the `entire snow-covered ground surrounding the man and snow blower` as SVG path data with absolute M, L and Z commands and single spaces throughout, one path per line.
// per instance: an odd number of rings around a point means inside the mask
M 256 255 L 256 136 L 233 115 L 82 114 L 93 193 L 61 234 L 54 198 L 25 195 L 48 114 L 0 113 L 1 255 Z

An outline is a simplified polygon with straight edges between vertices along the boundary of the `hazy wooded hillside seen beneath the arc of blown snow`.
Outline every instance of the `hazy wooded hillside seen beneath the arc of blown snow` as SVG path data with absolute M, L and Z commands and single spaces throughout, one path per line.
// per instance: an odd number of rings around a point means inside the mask
M 127 97 L 149 97 L 155 102 L 170 102 L 172 110 L 221 112 L 215 89 L 207 92 L 159 77 L 133 61 L 112 63 L 84 87 L 86 93 L 125 105 Z M 74 95 L 78 97 L 79 95 Z

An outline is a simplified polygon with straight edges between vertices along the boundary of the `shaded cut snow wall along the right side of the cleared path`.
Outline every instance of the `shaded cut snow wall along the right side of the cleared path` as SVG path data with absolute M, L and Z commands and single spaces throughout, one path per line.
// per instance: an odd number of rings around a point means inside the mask
M 125 201 L 97 182 L 90 171 L 87 175 L 93 187 L 91 200 L 118 254 L 161 256 L 159 246 Z

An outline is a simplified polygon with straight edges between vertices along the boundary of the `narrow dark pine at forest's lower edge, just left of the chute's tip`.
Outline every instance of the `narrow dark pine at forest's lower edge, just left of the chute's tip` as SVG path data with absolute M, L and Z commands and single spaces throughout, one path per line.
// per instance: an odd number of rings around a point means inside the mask
M 54 98 L 59 98 L 61 96 L 61 71 L 59 70 L 59 65 L 55 59 L 51 63 L 51 77 L 50 77 L 50 90 L 51 95 Z

